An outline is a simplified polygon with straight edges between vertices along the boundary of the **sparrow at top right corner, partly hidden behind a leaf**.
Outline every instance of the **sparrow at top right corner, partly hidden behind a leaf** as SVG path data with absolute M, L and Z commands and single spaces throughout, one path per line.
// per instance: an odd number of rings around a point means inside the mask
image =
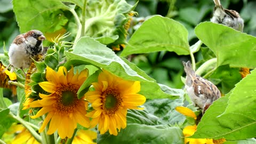
M 240 17 L 239 13 L 234 10 L 223 9 L 220 0 L 213 1 L 215 6 L 211 22 L 221 23 L 222 25 L 234 28 L 235 30 L 243 31 L 244 20 Z

